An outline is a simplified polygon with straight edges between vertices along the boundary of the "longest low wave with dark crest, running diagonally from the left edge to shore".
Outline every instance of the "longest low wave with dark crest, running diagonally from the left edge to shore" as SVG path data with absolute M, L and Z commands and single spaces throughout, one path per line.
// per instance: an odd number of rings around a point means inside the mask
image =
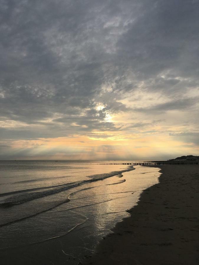
M 131 171 L 133 169 L 134 168 L 132 166 L 130 166 L 129 168 L 126 168 L 126 169 L 123 169 L 120 171 L 112 171 L 111 173 L 92 175 L 89 177 L 90 178 L 93 177 L 93 178 L 79 181 L 79 182 L 66 183 L 66 184 L 56 185 L 56 186 L 51 186 L 51 187 L 40 187 L 40 188 L 35 188 L 35 189 L 23 190 L 23 191 L 13 191 L 10 193 L 3 193 L 3 194 L 1 194 L 1 196 L 6 196 L 6 195 L 11 195 L 11 194 L 16 194 L 16 193 L 18 193 L 18 195 L 6 198 L 4 200 L 4 202 L 0 204 L 0 207 L 10 207 L 10 206 L 14 206 L 14 205 L 19 205 L 22 203 L 26 203 L 28 201 L 38 199 L 38 198 L 42 198 L 42 197 L 49 196 L 52 194 L 60 193 L 62 191 L 66 191 L 70 188 L 74 188 L 74 187 L 77 187 L 79 185 L 83 185 L 85 183 L 90 183 L 90 182 L 94 182 L 94 181 L 98 181 L 98 180 L 103 180 L 105 178 L 110 178 L 110 177 L 113 177 L 115 175 L 119 175 L 122 172 Z M 29 192 L 29 191 L 36 191 L 36 190 L 41 190 L 41 189 L 45 189 L 45 191 Z M 46 190 L 46 189 L 48 189 L 48 190 Z

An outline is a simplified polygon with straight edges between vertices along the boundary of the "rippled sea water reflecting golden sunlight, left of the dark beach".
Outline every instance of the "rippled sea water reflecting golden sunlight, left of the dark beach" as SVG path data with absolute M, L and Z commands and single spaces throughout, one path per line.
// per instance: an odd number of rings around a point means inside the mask
M 159 175 L 101 161 L 0 161 L 1 264 L 78 264 Z

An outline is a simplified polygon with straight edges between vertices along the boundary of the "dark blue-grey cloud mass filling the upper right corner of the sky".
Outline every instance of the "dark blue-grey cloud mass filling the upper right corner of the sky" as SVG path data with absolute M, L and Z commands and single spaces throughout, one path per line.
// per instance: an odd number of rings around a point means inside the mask
M 155 77 L 163 70 L 196 77 L 198 1 L 148 1 L 148 6 L 142 6 L 119 40 L 121 54 L 129 55 L 140 78 Z

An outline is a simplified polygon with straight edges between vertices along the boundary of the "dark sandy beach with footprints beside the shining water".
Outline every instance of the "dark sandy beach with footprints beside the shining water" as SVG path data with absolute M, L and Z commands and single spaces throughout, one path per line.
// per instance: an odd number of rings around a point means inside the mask
M 160 182 L 83 264 L 199 264 L 199 166 L 157 167 Z

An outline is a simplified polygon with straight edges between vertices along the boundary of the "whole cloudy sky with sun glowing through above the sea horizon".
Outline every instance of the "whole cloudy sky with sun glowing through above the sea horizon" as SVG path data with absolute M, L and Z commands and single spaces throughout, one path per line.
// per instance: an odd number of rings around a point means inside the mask
M 0 159 L 199 155 L 198 0 L 1 0 Z

